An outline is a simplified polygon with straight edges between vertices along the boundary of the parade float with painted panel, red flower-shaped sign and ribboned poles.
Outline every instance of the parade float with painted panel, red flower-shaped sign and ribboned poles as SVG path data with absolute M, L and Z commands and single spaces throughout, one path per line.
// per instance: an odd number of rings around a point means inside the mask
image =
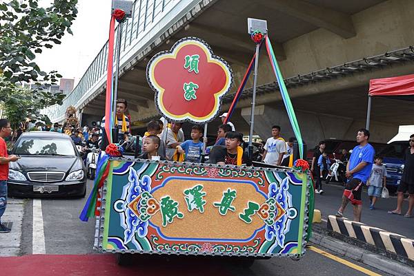
M 266 44 L 274 58 L 266 34 L 255 32 L 252 38 L 257 47 Z M 275 59 L 271 62 L 277 67 Z M 170 121 L 208 123 L 219 114 L 221 98 L 233 85 L 228 63 L 195 37 L 180 39 L 170 51 L 153 56 L 146 73 L 155 105 Z M 275 74 L 284 87 L 278 68 Z M 106 118 L 113 120 L 116 92 L 110 67 L 108 80 Z M 281 92 L 288 99 L 287 92 Z M 295 122 L 291 104 L 288 107 Z M 300 138 L 297 122 L 293 127 Z M 110 123 L 106 128 L 112 141 Z M 110 144 L 99 160 L 81 220 L 97 217 L 95 249 L 118 253 L 119 260 L 132 253 L 298 259 L 311 235 L 313 211 L 311 176 L 308 163 L 299 159 L 301 146 L 295 167 L 264 168 L 140 160 L 121 156 L 119 147 Z

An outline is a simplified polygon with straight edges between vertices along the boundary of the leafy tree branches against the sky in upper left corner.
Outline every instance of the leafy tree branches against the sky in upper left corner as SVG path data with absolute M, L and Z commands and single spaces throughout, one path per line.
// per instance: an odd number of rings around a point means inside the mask
M 56 83 L 56 71 L 41 71 L 33 61 L 44 48 L 60 44 L 77 16 L 77 0 L 55 0 L 41 8 L 39 0 L 0 2 L 0 72 L 12 84 Z

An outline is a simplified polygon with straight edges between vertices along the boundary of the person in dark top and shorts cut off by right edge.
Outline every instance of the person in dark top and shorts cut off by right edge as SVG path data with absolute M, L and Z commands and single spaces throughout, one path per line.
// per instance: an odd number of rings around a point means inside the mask
M 391 214 L 401 215 L 404 193 L 408 191 L 408 211 L 404 217 L 413 217 L 414 208 L 414 134 L 410 136 L 410 147 L 404 152 L 404 172 L 402 173 L 401 183 L 397 189 L 397 209 L 388 211 Z

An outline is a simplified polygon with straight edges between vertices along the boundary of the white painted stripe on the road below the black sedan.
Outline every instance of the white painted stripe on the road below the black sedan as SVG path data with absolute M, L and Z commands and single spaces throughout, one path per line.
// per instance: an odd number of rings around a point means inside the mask
M 43 215 L 41 200 L 33 200 L 33 240 L 32 254 L 46 254 L 45 233 L 43 231 Z

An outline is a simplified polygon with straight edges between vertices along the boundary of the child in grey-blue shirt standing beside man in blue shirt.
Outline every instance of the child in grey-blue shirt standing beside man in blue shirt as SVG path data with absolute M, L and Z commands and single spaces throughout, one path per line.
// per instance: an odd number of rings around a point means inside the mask
M 370 210 L 375 209 L 375 202 L 377 202 L 378 198 L 381 198 L 382 187 L 386 187 L 386 168 L 382 164 L 382 157 L 375 156 L 374 162 L 371 175 L 366 182 L 369 200 L 371 202 L 369 205 Z

